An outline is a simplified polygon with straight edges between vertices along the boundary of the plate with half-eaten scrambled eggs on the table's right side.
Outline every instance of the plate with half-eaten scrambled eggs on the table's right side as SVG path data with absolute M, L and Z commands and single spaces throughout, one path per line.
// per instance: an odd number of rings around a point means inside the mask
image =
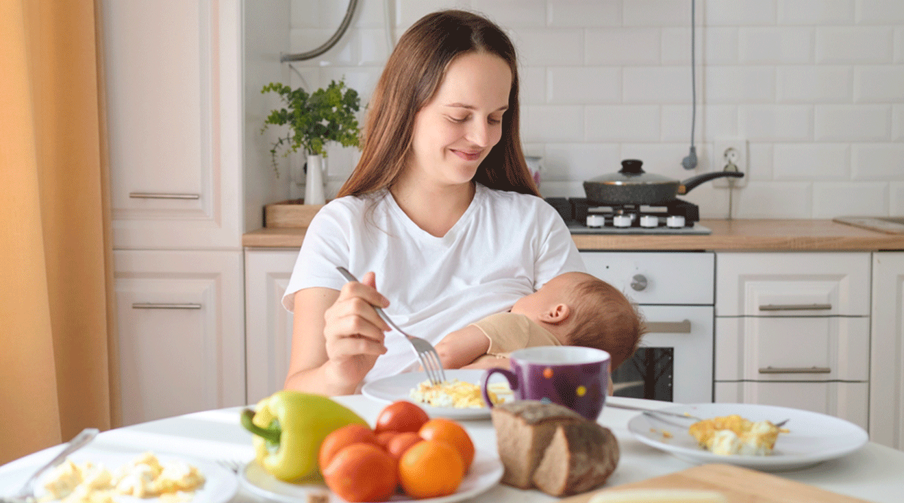
M 796 470 L 840 458 L 869 441 L 869 435 L 852 422 L 775 405 L 694 403 L 659 410 L 703 421 L 638 414 L 628 422 L 628 430 L 638 441 L 700 464 Z M 786 419 L 783 428 L 773 424 Z

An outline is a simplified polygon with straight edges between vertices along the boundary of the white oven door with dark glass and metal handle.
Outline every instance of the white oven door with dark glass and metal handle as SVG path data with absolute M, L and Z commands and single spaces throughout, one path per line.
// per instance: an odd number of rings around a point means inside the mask
M 616 396 L 712 402 L 713 308 L 640 306 L 649 332 L 612 373 Z

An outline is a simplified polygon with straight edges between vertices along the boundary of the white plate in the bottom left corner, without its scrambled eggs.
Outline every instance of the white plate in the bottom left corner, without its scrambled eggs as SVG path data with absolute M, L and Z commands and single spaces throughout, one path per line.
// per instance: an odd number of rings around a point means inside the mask
M 69 457 L 72 462 L 81 464 L 90 461 L 97 464 L 103 464 L 111 472 L 115 472 L 119 467 L 132 462 L 143 452 L 108 452 L 108 451 L 78 451 Z M 231 500 L 235 493 L 239 490 L 239 481 L 231 470 L 227 470 L 220 465 L 205 461 L 196 460 L 190 457 L 174 456 L 167 454 L 155 454 L 162 464 L 167 461 L 182 460 L 197 468 L 204 476 L 204 485 L 201 489 L 194 492 L 194 498 L 190 503 L 226 503 Z M 0 482 L 0 494 L 10 494 L 22 488 L 25 480 L 32 476 L 34 470 L 40 468 L 43 463 L 35 463 L 34 465 L 26 465 L 17 470 L 5 472 L 3 474 L 3 482 Z M 39 499 L 44 496 L 43 481 L 47 474 L 35 484 L 35 496 Z M 4 487 L 8 486 L 8 487 Z M 133 496 L 117 496 L 115 497 L 120 503 L 158 503 L 160 498 L 136 498 Z M 54 501 L 54 500 L 49 500 Z

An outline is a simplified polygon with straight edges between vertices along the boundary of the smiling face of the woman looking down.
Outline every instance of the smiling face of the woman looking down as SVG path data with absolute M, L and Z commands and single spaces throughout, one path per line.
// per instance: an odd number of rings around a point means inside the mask
M 508 63 L 487 52 L 454 59 L 436 96 L 415 116 L 407 176 L 419 183 L 461 185 L 502 138 L 512 89 Z

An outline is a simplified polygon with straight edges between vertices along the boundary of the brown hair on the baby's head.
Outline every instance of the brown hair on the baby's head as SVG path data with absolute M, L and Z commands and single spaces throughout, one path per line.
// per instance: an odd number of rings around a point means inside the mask
M 596 347 L 612 356 L 615 370 L 634 356 L 646 328 L 643 318 L 622 292 L 606 281 L 589 277 L 574 289 L 571 346 Z

